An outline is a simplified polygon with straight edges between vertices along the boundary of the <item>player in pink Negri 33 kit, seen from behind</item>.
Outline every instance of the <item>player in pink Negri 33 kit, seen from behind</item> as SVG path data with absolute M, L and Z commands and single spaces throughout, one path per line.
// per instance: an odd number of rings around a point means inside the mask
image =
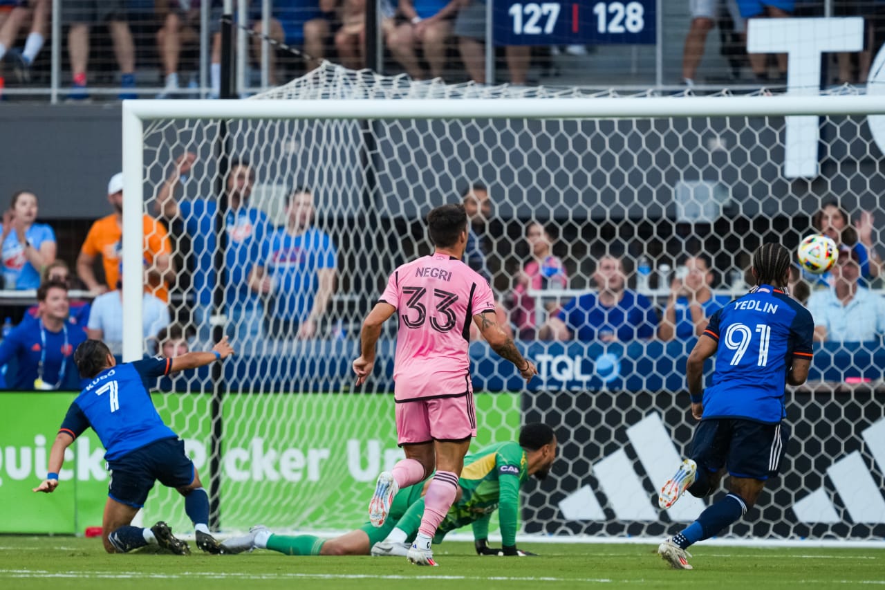
M 476 436 L 467 354 L 470 322 L 522 377 L 531 379 L 537 370 L 497 324 L 489 283 L 461 261 L 467 244 L 464 206 L 436 207 L 427 215 L 427 226 L 435 252 L 396 268 L 390 276 L 363 322 L 361 354 L 353 369 L 357 384 L 365 383 L 374 367 L 381 324 L 396 314 L 396 434 L 406 458 L 378 477 L 369 520 L 381 526 L 396 492 L 436 470 L 408 555 L 412 563 L 435 565 L 430 541 L 455 499 L 464 455 Z

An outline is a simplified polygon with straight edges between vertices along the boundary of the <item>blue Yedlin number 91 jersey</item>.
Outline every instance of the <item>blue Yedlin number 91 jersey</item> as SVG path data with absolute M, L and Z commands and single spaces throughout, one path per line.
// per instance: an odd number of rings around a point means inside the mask
M 779 423 L 794 358 L 812 358 L 812 314 L 789 295 L 760 285 L 712 315 L 704 336 L 719 344 L 704 419 Z

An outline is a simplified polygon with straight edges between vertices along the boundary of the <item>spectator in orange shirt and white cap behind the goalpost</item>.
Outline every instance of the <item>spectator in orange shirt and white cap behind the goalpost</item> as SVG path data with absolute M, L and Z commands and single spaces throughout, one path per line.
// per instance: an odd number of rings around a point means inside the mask
M 113 175 L 108 182 L 108 200 L 114 212 L 92 224 L 89 234 L 77 257 L 77 276 L 86 284 L 87 289 L 96 297 L 107 291 L 117 289 L 122 262 L 123 245 L 123 174 Z M 144 264 L 147 268 L 147 284 L 145 291 L 169 302 L 167 285 L 172 283 L 175 268 L 172 263 L 172 243 L 165 226 L 150 217 L 143 215 L 144 231 Z M 96 256 L 102 257 L 104 267 L 104 283 L 99 283 L 93 268 Z

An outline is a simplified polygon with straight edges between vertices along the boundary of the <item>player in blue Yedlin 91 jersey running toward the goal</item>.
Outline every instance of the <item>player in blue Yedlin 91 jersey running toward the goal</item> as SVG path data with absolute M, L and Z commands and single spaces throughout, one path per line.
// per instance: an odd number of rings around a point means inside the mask
M 686 548 L 709 539 L 753 507 L 768 477 L 777 474 L 789 434 L 781 423 L 785 384 L 801 385 L 812 364 L 812 314 L 786 292 L 790 255 L 766 244 L 753 253 L 756 286 L 712 315 L 686 365 L 691 415 L 700 420 L 690 459 L 661 488 L 670 508 L 686 490 L 698 498 L 729 475 L 728 494 L 658 554 L 673 568 L 691 570 Z M 704 361 L 717 355 L 712 385 L 704 389 Z

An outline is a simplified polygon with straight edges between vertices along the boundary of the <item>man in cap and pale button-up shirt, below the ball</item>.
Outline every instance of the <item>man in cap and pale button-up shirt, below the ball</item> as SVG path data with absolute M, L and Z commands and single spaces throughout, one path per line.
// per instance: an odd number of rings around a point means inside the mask
M 885 299 L 859 284 L 857 250 L 839 247 L 833 286 L 808 298 L 817 342 L 868 342 L 885 335 Z

